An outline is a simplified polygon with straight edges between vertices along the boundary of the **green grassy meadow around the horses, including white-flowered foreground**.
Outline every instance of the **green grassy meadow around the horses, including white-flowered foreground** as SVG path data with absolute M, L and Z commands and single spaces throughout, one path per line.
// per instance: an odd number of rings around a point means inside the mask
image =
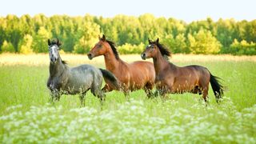
M 62 95 L 48 104 L 48 54 L 0 54 L 1 143 L 256 143 L 256 57 L 174 55 L 178 66 L 206 66 L 228 87 L 221 104 L 212 90 L 210 105 L 197 94 L 170 94 L 147 99 L 143 90 L 107 93 L 98 98 Z M 139 55 L 120 56 L 126 62 Z M 62 54 L 70 66 L 104 67 L 103 58 Z

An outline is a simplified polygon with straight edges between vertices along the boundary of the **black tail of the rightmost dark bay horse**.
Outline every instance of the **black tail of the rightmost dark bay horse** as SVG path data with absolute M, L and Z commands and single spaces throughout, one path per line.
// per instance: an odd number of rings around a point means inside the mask
M 219 102 L 219 99 L 223 96 L 224 86 L 218 81 L 218 77 L 210 74 L 210 85 L 213 88 L 216 102 Z

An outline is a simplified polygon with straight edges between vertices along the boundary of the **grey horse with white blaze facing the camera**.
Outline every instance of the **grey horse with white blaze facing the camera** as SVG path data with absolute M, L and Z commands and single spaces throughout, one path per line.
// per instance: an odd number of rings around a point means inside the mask
M 118 80 L 108 70 L 102 70 L 90 65 L 81 65 L 70 68 L 62 61 L 58 53 L 61 43 L 50 42 L 48 39 L 50 56 L 50 77 L 47 87 L 51 91 L 51 102 L 59 101 L 62 94 L 79 94 L 81 106 L 85 106 L 85 96 L 88 90 L 94 96 L 100 98 L 101 103 L 106 95 L 102 92 L 102 77 L 108 79 L 114 86 L 118 86 Z

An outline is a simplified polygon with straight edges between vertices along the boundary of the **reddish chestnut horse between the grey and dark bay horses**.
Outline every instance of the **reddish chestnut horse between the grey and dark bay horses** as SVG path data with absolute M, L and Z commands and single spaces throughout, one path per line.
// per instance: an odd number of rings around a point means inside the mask
M 147 96 L 150 98 L 153 93 L 151 90 L 154 87 L 154 65 L 152 62 L 137 61 L 133 63 L 126 63 L 118 56 L 118 51 L 114 46 L 114 42 L 106 40 L 105 35 L 99 38 L 99 42 L 90 50 L 88 58 L 92 59 L 99 55 L 104 55 L 106 70 L 110 70 L 122 83 L 122 90 L 124 90 L 126 97 L 129 91 L 144 89 Z M 103 90 L 116 90 L 109 82 Z

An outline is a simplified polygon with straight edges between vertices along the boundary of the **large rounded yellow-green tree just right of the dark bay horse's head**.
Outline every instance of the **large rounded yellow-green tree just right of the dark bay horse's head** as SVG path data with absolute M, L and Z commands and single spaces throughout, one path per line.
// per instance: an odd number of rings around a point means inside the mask
M 217 54 L 221 44 L 209 30 L 199 30 L 198 33 L 189 34 L 189 47 L 192 54 Z

